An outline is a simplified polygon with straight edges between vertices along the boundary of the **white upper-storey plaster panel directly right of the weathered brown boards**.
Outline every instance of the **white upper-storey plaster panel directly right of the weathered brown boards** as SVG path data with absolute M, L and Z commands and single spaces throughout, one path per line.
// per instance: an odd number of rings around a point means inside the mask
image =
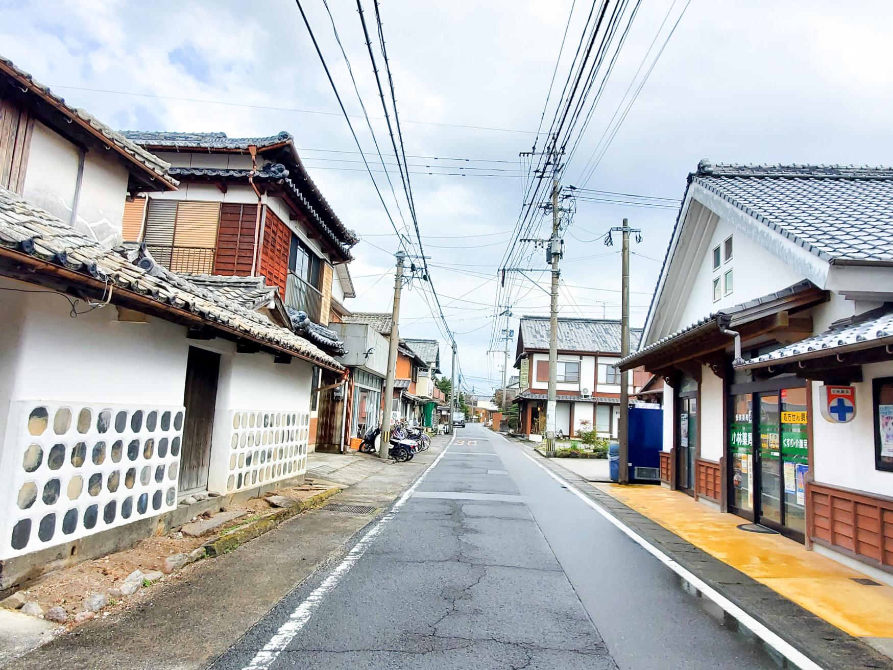
M 70 222 L 78 186 L 79 161 L 78 147 L 36 121 L 31 134 L 22 197 L 64 222 Z M 121 193 L 122 208 L 125 195 Z

